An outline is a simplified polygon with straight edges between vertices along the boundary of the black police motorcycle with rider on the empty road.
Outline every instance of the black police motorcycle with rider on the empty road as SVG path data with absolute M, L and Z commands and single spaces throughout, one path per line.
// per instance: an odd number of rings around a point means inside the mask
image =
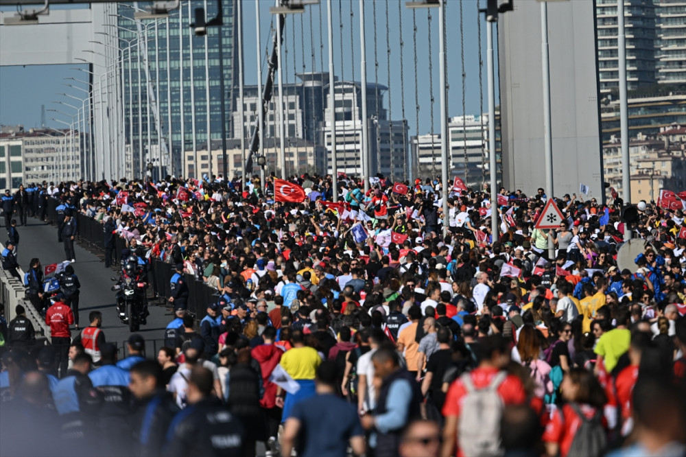
M 136 257 L 129 257 L 119 279 L 112 278 L 117 284 L 112 286 L 117 291 L 117 314 L 121 323 L 128 324 L 129 331 L 139 331 L 147 324 L 147 281 L 145 271 L 139 266 Z

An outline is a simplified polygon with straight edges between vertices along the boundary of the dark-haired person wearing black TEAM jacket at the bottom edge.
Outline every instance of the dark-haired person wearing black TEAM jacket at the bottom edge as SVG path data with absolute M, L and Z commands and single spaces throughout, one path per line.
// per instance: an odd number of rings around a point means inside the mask
M 163 454 L 169 456 L 243 456 L 245 431 L 220 399 L 211 395 L 212 372 L 191 371 L 186 391 L 189 407 L 169 425 Z M 255 451 L 252 450 L 252 454 Z M 246 454 L 250 455 L 250 454 Z

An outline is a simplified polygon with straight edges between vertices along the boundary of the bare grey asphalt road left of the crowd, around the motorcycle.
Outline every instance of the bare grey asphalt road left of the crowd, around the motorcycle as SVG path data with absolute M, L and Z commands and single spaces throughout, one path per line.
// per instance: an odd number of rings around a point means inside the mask
M 21 268 L 26 271 L 32 258 L 38 257 L 43 266 L 50 263 L 59 263 L 65 259 L 64 246 L 57 241 L 56 226 L 45 224 L 38 219 L 29 218 L 28 225 L 17 227 L 19 231 L 19 249 L 17 261 Z M 2 230 L 3 241 L 6 232 Z M 80 322 L 79 327 L 88 326 L 88 314 L 97 309 L 102 312 L 102 330 L 108 342 L 116 342 L 119 347 L 126 347 L 126 340 L 131 334 L 128 326 L 121 323 L 117 316 L 115 305 L 115 292 L 110 290 L 114 282 L 110 279 L 118 277 L 118 273 L 112 268 L 105 268 L 104 255 L 95 255 L 78 242 L 74 244 L 76 262 L 73 263 L 74 272 L 81 283 L 81 299 L 79 303 Z M 164 306 L 156 306 L 152 303 L 148 306 L 150 316 L 147 317 L 147 325 L 141 326 L 138 332 L 146 340 L 146 355 L 156 358 L 155 349 L 163 346 L 164 330 L 167 324 L 174 318 L 171 312 Z M 71 336 L 76 336 L 73 331 Z M 119 358 L 124 354 L 120 351 Z

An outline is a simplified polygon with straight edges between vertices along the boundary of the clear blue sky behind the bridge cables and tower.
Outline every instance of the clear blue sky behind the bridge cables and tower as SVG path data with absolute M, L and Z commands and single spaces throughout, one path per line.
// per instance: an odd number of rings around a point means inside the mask
M 211 1 L 211 0 L 210 0 Z M 182 2 L 187 5 L 186 2 Z M 399 7 L 399 3 L 401 8 Z M 486 0 L 481 1 L 484 8 Z M 143 3 L 141 3 L 142 5 Z M 480 86 L 479 86 L 479 54 L 478 54 L 478 31 L 477 31 L 477 2 L 475 0 L 464 0 L 462 4 L 463 15 L 463 34 L 464 34 L 464 71 L 466 73 L 465 82 L 465 106 L 466 113 L 478 114 L 488 108 L 488 95 L 486 93 L 486 24 L 483 16 L 482 21 L 482 58 L 483 58 L 483 108 L 480 107 Z M 260 21 L 261 21 L 261 45 L 263 52 L 263 76 L 265 76 L 265 49 L 271 49 L 272 39 L 270 25 L 272 16 L 269 7 L 274 5 L 272 1 L 260 1 Z M 340 29 L 339 5 L 342 10 L 343 29 Z M 399 12 L 402 14 L 402 39 L 403 39 L 403 80 L 405 83 L 405 117 L 410 126 L 410 134 L 416 134 L 415 119 L 416 111 L 414 104 L 414 51 L 412 37 L 412 10 L 405 8 L 405 0 L 377 0 L 377 20 L 373 21 L 374 2 L 366 0 L 365 3 L 365 23 L 366 23 L 366 64 L 367 81 L 375 81 L 375 58 L 374 58 L 374 30 L 376 24 L 377 32 L 377 60 L 379 62 L 378 81 L 380 84 L 388 85 L 388 66 L 386 65 L 386 6 L 388 5 L 388 38 L 391 48 L 390 57 L 390 99 L 392 104 L 392 118 L 401 119 L 401 63 L 400 63 L 400 20 Z M 351 34 L 351 6 L 353 8 L 353 27 Z M 51 7 L 52 8 L 52 7 Z M 73 7 L 72 7 L 73 8 Z M 323 69 L 328 71 L 328 43 L 327 43 L 327 0 L 322 0 L 321 5 L 311 8 L 311 18 L 309 10 L 305 14 L 291 14 L 287 16 L 285 28 L 285 41 L 283 45 L 284 59 L 284 82 L 294 82 L 294 73 L 303 71 L 303 51 L 305 53 L 305 71 L 312 71 L 310 33 L 314 38 L 314 54 L 316 64 L 314 69 L 320 71 L 322 62 L 320 61 L 320 10 L 322 17 L 322 38 L 324 48 L 322 50 L 324 62 Z M 431 130 L 431 96 L 429 92 L 429 34 L 427 9 L 416 10 L 417 25 L 417 79 L 418 79 L 418 101 L 419 111 L 419 131 L 421 134 Z M 185 10 L 187 12 L 187 10 Z M 439 114 L 439 93 L 438 93 L 438 9 L 431 8 L 431 55 L 434 86 L 434 131 L 440 132 Z M 460 56 L 460 2 L 449 0 L 447 2 L 447 60 L 448 60 L 448 113 L 449 116 L 462 115 L 462 62 Z M 276 25 L 276 22 L 273 22 Z M 304 33 L 301 33 L 304 32 Z M 295 38 L 293 33 L 295 32 Z M 343 40 L 341 65 L 341 33 Z M 359 1 L 356 0 L 333 0 L 333 54 L 335 73 L 338 78 L 345 80 L 360 79 L 360 47 L 359 47 Z M 295 41 L 294 41 L 295 39 Z M 256 60 L 256 34 L 255 34 L 255 2 L 244 1 L 244 62 L 245 62 L 245 81 L 246 84 L 257 83 L 257 60 Z M 494 34 L 494 41 L 497 43 L 497 33 Z M 294 45 L 294 43 L 297 43 Z M 287 51 L 287 54 L 286 52 Z M 294 65 L 293 58 L 296 54 Z M 354 59 L 353 59 L 354 55 Z M 75 99 L 69 99 L 58 95 L 58 93 L 69 93 L 75 97 L 82 97 L 82 91 L 72 89 L 62 84 L 73 83 L 74 85 L 86 88 L 84 84 L 73 81 L 66 81 L 64 78 L 76 78 L 84 80 L 86 73 L 73 70 L 78 65 L 51 65 L 36 67 L 2 67 L 0 57 L 0 124 L 14 125 L 23 124 L 25 128 L 40 126 L 40 107 L 45 104 L 46 110 L 57 109 L 72 113 L 73 110 L 67 106 L 53 103 L 62 101 L 64 103 L 76 105 Z M 497 65 L 497 46 L 496 46 L 496 65 Z M 353 77 L 353 67 L 355 75 Z M 82 68 L 86 68 L 82 66 Z M 496 67 L 497 71 L 497 67 Z M 496 75 L 497 78 L 497 75 Z M 497 92 L 497 79 L 496 79 Z M 497 96 L 497 94 L 496 94 Z M 496 104 L 498 102 L 496 101 Z M 79 104 L 80 106 L 80 104 Z M 388 108 L 388 94 L 386 95 L 386 107 Z M 67 120 L 68 117 L 60 113 L 47 111 L 47 125 L 55 128 L 63 128 L 64 125 L 51 121 L 51 117 Z

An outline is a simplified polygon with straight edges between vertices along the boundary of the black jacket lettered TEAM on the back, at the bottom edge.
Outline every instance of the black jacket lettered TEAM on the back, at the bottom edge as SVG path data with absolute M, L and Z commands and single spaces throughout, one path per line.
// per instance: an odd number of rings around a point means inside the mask
M 165 456 L 222 456 L 244 455 L 244 427 L 222 405 L 207 398 L 189 406 L 169 426 Z

